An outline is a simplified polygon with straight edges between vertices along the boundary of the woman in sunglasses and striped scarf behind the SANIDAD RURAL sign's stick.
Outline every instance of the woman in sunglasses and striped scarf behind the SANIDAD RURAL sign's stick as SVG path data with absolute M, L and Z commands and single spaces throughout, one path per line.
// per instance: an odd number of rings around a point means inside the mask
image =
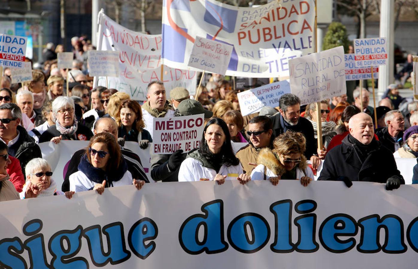
M 332 137 L 336 135 L 336 123 L 332 121 L 327 121 L 329 116 L 329 104 L 326 100 L 321 101 L 321 129 L 322 129 L 322 141 L 324 143 L 324 148 L 326 149 L 331 142 Z M 316 113 L 316 103 L 311 103 L 306 106 L 305 118 L 309 119 L 314 127 L 314 136 L 315 139 L 318 137 L 317 133 L 317 113 Z M 324 157 L 325 157 L 325 152 Z

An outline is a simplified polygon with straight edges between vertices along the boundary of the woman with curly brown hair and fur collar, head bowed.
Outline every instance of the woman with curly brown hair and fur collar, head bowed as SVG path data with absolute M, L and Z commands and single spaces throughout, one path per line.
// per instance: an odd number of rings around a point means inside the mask
M 303 155 L 305 150 L 303 134 L 292 131 L 280 134 L 273 142 L 273 150 L 260 150 L 258 165 L 252 170 L 251 179 L 270 180 L 273 185 L 277 185 L 280 179 L 296 179 L 306 187 L 314 178 L 314 173 Z

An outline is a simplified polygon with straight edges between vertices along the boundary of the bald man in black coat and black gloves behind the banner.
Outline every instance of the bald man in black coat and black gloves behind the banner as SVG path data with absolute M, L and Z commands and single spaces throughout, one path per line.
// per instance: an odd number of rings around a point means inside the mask
M 405 184 L 393 153 L 375 139 L 372 118 L 362 112 L 348 124 L 349 134 L 326 154 L 318 180 L 344 181 L 347 187 L 352 181 L 385 183 L 387 190 Z

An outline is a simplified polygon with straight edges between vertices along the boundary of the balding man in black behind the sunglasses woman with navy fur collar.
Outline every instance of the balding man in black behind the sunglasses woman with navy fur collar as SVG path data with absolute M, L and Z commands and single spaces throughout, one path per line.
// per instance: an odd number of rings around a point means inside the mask
M 93 129 L 94 135 L 108 132 L 112 134 L 116 141 L 117 141 L 117 124 L 114 119 L 112 118 L 99 118 L 94 125 Z M 139 180 L 144 180 L 145 182 L 149 182 L 147 175 L 145 174 L 145 170 L 141 164 L 141 160 L 136 153 L 132 152 L 131 150 L 124 149 L 121 147 L 122 156 L 125 158 L 125 161 L 128 165 L 128 170 L 132 174 L 132 177 Z M 86 152 L 86 149 L 78 150 L 74 153 L 73 157 L 71 157 L 70 163 L 68 165 L 67 173 L 65 174 L 64 183 L 62 183 L 61 190 L 69 191 L 70 189 L 70 182 L 69 177 L 72 173 L 78 171 L 78 165 L 80 163 L 82 155 Z

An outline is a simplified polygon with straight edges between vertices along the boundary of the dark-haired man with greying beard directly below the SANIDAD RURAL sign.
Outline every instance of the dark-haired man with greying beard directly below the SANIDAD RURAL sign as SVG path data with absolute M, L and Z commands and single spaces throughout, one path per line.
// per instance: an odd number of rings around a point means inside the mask
M 324 150 L 316 150 L 314 127 L 311 122 L 301 116 L 301 100 L 294 94 L 283 94 L 279 99 L 280 114 L 270 117 L 273 122 L 273 136 L 291 130 L 301 132 L 306 138 L 305 156 L 312 162 L 312 168 L 316 169 L 321 163 L 320 157 L 325 157 Z M 318 155 L 316 155 L 318 154 Z

